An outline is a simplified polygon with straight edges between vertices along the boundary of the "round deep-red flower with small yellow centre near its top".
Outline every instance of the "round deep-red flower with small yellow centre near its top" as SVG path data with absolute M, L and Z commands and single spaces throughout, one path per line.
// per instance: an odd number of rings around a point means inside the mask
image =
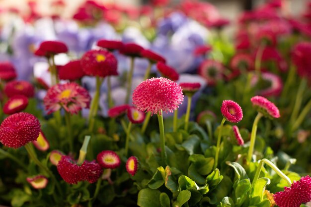
M 105 50 L 91 50 L 85 52 L 81 58 L 81 65 L 86 75 L 106 77 L 118 75 L 118 62 L 115 56 Z

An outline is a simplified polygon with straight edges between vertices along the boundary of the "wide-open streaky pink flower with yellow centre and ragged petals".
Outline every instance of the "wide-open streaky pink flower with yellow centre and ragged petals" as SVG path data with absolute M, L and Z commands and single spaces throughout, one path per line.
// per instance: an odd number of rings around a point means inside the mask
M 43 103 L 48 113 L 55 112 L 63 107 L 67 112 L 74 114 L 82 108 L 88 108 L 90 96 L 77 83 L 57 84 L 48 90 Z

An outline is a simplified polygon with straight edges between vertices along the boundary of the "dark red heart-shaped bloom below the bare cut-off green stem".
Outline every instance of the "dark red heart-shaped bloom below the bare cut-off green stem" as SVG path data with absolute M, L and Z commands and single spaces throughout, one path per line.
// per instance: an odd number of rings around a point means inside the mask
M 61 177 L 69 184 L 77 184 L 79 181 L 94 183 L 102 174 L 101 166 L 94 161 L 84 161 L 78 165 L 70 156 L 62 156 L 57 164 L 57 170 Z

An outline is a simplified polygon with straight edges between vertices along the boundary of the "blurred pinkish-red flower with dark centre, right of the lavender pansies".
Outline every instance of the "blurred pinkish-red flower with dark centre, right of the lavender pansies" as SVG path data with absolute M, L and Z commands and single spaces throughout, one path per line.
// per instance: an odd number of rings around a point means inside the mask
M 198 74 L 206 79 L 207 84 L 214 86 L 218 80 L 223 79 L 225 67 L 221 62 L 212 59 L 204 60 L 198 70 Z

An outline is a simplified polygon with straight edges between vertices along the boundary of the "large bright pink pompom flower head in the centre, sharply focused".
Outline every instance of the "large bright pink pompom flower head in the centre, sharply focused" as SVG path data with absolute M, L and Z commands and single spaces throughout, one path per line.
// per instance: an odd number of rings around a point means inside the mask
M 140 83 L 133 93 L 133 104 L 141 111 L 160 114 L 173 112 L 183 102 L 180 86 L 166 78 L 151 78 Z

